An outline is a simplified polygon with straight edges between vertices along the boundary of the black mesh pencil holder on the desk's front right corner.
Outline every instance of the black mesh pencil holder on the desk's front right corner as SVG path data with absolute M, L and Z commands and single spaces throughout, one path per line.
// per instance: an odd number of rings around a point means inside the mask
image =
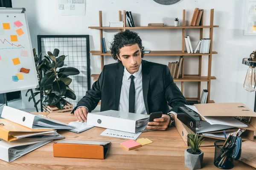
M 225 141 L 220 140 L 214 142 L 215 145 L 215 155 L 214 155 L 214 165 L 221 169 L 231 169 L 234 167 L 233 162 L 233 150 L 235 148 L 235 144 L 233 146 L 222 148 Z

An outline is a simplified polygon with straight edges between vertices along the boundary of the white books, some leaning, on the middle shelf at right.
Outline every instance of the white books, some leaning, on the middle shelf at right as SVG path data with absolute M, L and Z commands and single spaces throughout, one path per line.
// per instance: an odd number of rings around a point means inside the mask
M 209 38 L 200 39 L 195 47 L 195 51 L 193 51 L 189 35 L 186 35 L 184 38 L 185 38 L 186 50 L 188 53 L 196 53 L 198 51 L 199 47 L 200 47 L 199 53 L 201 53 L 201 54 L 209 53 L 211 39 L 209 39 Z

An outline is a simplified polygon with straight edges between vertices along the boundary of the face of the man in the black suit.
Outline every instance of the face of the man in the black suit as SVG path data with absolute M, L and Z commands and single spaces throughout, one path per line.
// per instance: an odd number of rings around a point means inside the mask
M 120 48 L 117 56 L 130 74 L 139 71 L 141 63 L 141 50 L 138 44 Z

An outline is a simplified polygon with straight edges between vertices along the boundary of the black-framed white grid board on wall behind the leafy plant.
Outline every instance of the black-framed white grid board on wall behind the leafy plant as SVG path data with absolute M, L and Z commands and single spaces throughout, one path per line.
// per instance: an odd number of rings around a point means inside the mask
M 75 107 L 90 89 L 89 35 L 38 35 L 38 54 L 45 56 L 47 51 L 53 52 L 55 48 L 60 50 L 59 56 L 67 56 L 63 67 L 74 67 L 80 71 L 78 75 L 69 76 L 72 79 L 69 88 L 76 94 L 76 100 L 65 99 Z

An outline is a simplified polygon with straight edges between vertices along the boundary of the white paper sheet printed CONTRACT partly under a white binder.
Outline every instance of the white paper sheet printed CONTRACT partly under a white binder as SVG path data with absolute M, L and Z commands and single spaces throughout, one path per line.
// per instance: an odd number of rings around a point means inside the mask
M 136 140 L 140 136 L 140 134 L 141 134 L 141 132 L 128 133 L 128 132 L 122 132 L 122 131 L 118 131 L 118 130 L 106 129 L 100 135 L 101 136 L 114 137 L 114 138 L 134 139 L 134 140 Z

